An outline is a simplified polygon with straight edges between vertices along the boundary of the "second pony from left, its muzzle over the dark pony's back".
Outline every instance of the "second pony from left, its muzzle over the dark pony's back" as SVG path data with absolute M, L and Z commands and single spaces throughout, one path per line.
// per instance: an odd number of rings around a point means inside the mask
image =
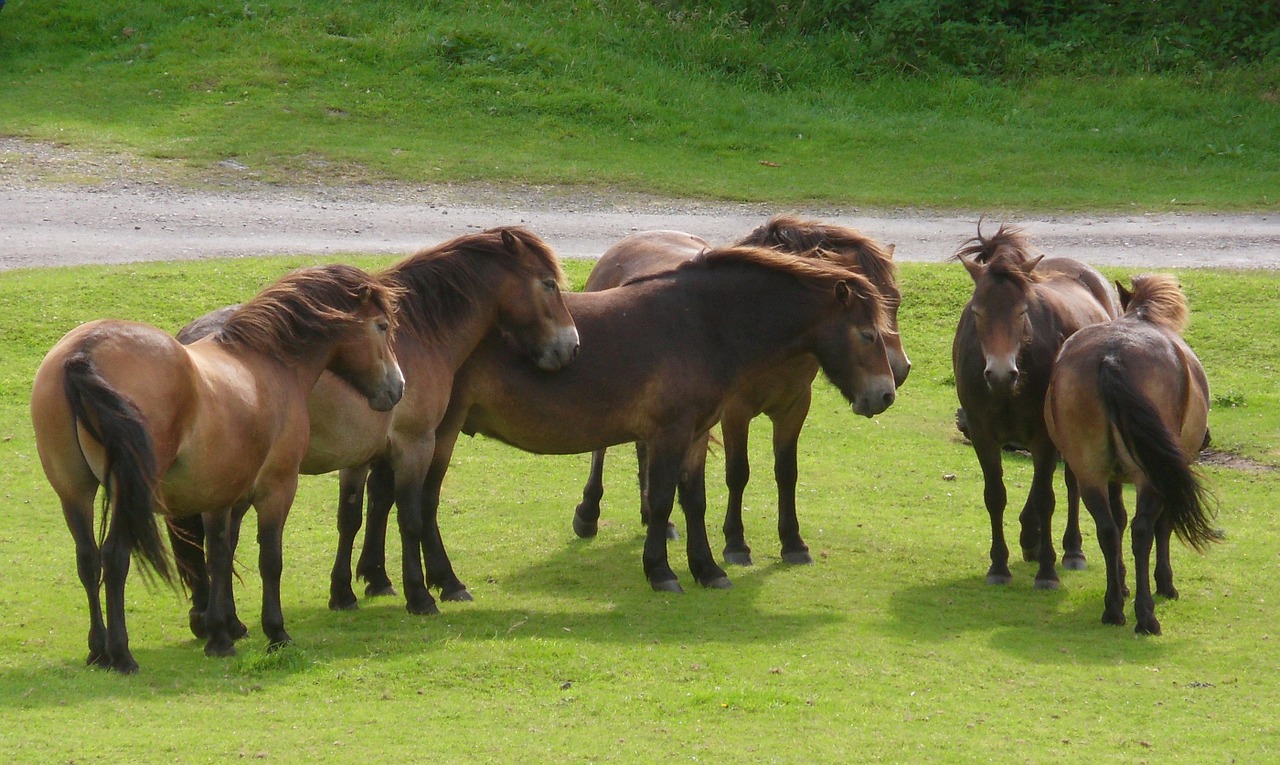
M 419 556 L 422 478 L 435 450 L 435 429 L 449 402 L 453 375 L 489 333 L 498 333 L 522 363 L 554 371 L 577 353 L 577 330 L 561 296 L 563 274 L 556 253 L 531 232 L 497 228 L 457 237 L 422 249 L 378 275 L 404 293 L 396 352 L 404 368 L 404 400 L 389 414 L 355 406 L 353 393 L 337 377 L 321 376 L 307 399 L 311 443 L 302 461 L 308 475 L 339 471 L 338 554 L 330 577 L 329 608 L 356 608 L 351 556 L 361 527 L 370 471 L 367 535 L 378 555 L 362 555 L 357 573 L 370 595 L 394 594 L 383 560 L 387 517 L 399 508 L 404 554 L 404 596 L 412 613 L 438 609 L 422 581 Z M 180 339 L 216 330 L 218 316 L 188 325 Z M 366 541 L 366 545 L 369 542 Z M 186 548 L 175 549 L 188 549 Z M 198 555 L 193 555 L 198 564 Z M 195 577 L 198 587 L 200 577 Z M 445 600 L 470 600 L 457 577 L 435 580 Z M 195 590 L 193 590 L 195 591 Z M 193 599 L 198 611 L 198 599 Z M 193 620 L 193 628 L 198 620 Z

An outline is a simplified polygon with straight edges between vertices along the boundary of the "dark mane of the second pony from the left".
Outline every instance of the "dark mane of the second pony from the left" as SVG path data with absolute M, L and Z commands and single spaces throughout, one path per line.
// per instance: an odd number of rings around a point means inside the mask
M 504 233 L 518 243 L 515 248 L 507 246 Z M 530 279 L 552 272 L 557 281 L 564 283 L 552 248 L 521 226 L 456 237 L 406 257 L 380 278 L 411 293 L 399 306 L 402 321 L 430 339 L 440 338 L 471 316 L 492 288 L 493 280 L 485 275 L 492 266 Z

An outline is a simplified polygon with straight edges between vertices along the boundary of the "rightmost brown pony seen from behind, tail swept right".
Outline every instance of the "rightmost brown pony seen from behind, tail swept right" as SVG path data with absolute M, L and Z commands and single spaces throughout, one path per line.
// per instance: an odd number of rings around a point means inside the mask
M 1135 276 L 1132 293 L 1120 285 L 1120 301 L 1121 319 L 1082 329 L 1062 345 L 1044 422 L 1098 527 L 1107 565 L 1105 624 L 1125 622 L 1120 485 L 1137 484 L 1137 632 L 1160 635 L 1148 578 L 1152 542 L 1156 592 L 1178 597 L 1171 532 L 1197 550 L 1221 539 L 1210 524 L 1208 493 L 1190 468 L 1207 432 L 1208 380 L 1181 338 L 1187 299 L 1172 276 Z

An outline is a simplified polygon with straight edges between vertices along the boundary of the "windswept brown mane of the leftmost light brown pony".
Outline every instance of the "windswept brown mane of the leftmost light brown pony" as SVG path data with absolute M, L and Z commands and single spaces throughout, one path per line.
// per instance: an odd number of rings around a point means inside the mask
M 360 321 L 370 303 L 393 321 L 398 299 L 398 289 L 355 266 L 298 269 L 237 308 L 218 342 L 294 358 L 307 345 L 330 342 Z

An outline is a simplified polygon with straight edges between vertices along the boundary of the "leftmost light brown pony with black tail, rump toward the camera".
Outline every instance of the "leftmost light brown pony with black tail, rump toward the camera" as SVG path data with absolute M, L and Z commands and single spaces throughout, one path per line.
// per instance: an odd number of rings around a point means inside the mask
M 156 327 L 92 321 L 36 372 L 31 418 L 61 500 L 88 595 L 88 663 L 129 673 L 129 555 L 172 581 L 154 513 L 204 516 L 212 595 L 209 655 L 236 649 L 228 623 L 233 508 L 259 518 L 262 629 L 289 642 L 280 611 L 280 540 L 310 430 L 306 397 L 330 370 L 361 407 L 390 409 L 404 377 L 392 348 L 398 290 L 351 266 L 294 271 L 236 311 L 215 338 L 184 347 Z M 93 498 L 105 486 L 99 549 Z M 106 623 L 99 588 L 106 583 Z

